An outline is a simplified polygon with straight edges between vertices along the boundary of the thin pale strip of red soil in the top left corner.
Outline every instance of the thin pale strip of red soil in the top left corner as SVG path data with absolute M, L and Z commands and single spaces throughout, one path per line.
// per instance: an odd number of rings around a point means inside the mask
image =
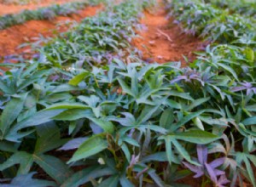
M 68 2 L 77 2 L 75 0 L 44 0 L 41 3 L 29 3 L 26 5 L 15 4 L 1 4 L 0 3 L 0 15 L 3 14 L 16 14 L 20 13 L 24 9 L 37 9 L 41 7 L 49 7 L 52 4 L 63 4 Z

